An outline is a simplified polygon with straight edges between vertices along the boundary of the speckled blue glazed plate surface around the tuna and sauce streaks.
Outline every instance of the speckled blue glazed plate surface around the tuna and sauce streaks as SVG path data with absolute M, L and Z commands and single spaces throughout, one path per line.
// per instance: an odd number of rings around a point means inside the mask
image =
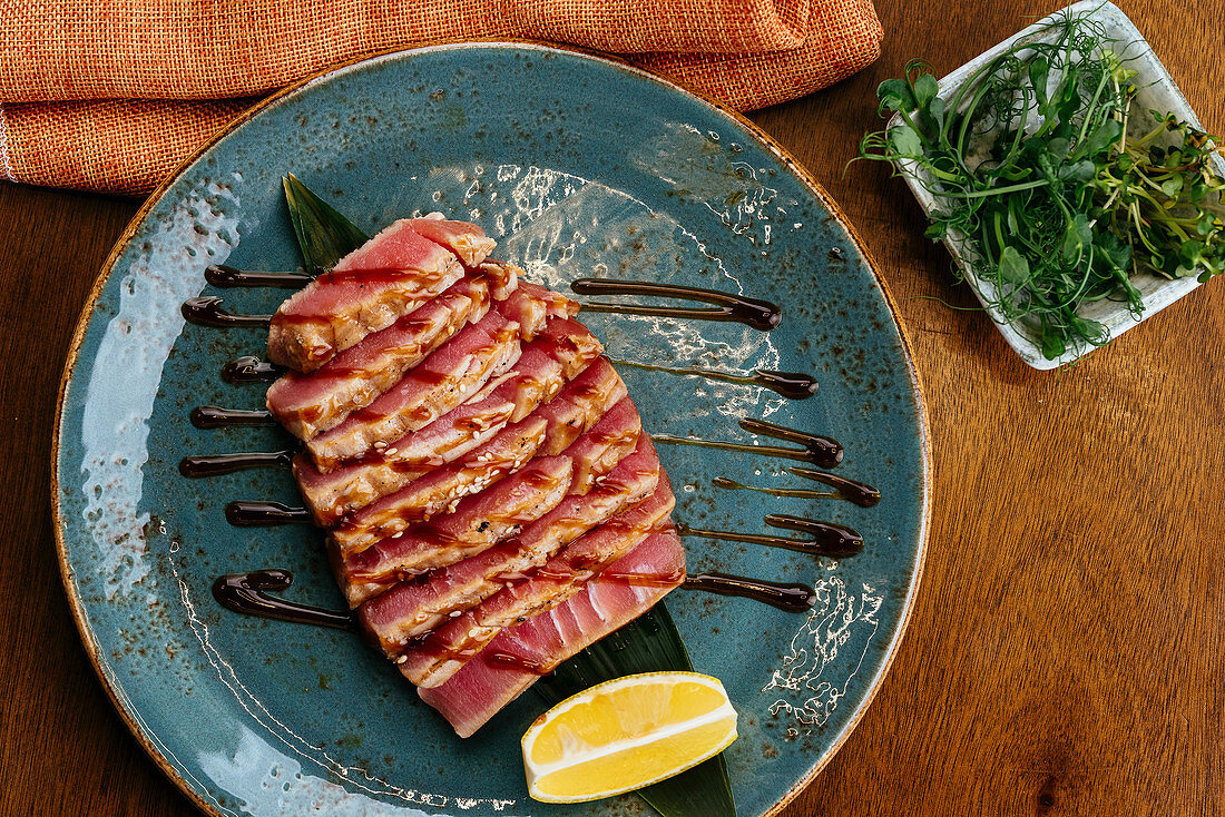
M 675 517 L 767 530 L 769 511 L 849 524 L 842 561 L 686 540 L 691 570 L 812 583 L 811 615 L 676 592 L 669 608 L 699 671 L 740 712 L 728 751 L 740 813 L 775 811 L 837 751 L 888 668 L 922 566 L 927 432 L 888 298 L 820 186 L 752 125 L 615 60 L 534 43 L 439 45 L 333 70 L 221 135 L 151 198 L 93 293 L 65 371 L 53 503 L 86 648 L 140 742 L 218 815 L 638 813 L 632 796 L 568 807 L 526 795 L 518 739 L 545 707 L 524 695 L 467 741 L 345 632 L 221 609 L 221 573 L 288 567 L 287 595 L 339 608 L 320 535 L 233 528 L 230 500 L 293 503 L 287 472 L 187 480 L 186 454 L 276 450 L 279 430 L 198 430 L 200 404 L 257 408 L 222 365 L 260 329 L 185 325 L 205 267 L 300 261 L 279 180 L 294 173 L 368 232 L 415 212 L 473 219 L 499 255 L 565 288 L 581 276 L 767 298 L 780 326 L 590 314 L 615 358 L 810 371 L 816 397 L 624 367 L 649 431 L 750 441 L 741 416 L 828 434 L 839 473 L 873 508 L 720 490 L 710 478 L 799 485 L 786 463 L 660 446 Z M 213 293 L 216 294 L 216 293 Z M 239 312 L 283 290 L 227 290 Z

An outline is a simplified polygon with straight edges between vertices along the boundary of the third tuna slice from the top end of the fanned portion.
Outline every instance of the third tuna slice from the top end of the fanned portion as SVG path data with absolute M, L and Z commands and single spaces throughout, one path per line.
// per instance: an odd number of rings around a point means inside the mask
M 374 403 L 309 440 L 306 450 L 315 467 L 326 473 L 425 427 L 514 365 L 519 352 L 518 325 L 490 312 L 431 353 Z

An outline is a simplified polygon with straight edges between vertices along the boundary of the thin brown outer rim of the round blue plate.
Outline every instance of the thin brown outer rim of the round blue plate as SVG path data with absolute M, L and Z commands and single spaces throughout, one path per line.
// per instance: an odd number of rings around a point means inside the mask
M 110 280 L 111 274 L 115 272 L 115 265 L 119 261 L 123 252 L 126 250 L 127 245 L 131 243 L 136 234 L 137 228 L 145 222 L 149 211 L 153 209 L 160 202 L 162 197 L 167 191 L 179 180 L 179 178 L 186 173 L 205 153 L 213 148 L 218 142 L 227 138 L 235 130 L 251 121 L 255 116 L 261 114 L 263 110 L 282 104 L 287 97 L 296 94 L 305 88 L 327 81 L 332 75 L 345 72 L 353 70 L 358 66 L 365 64 L 376 64 L 382 61 L 391 61 L 398 59 L 412 59 L 418 54 L 426 54 L 432 51 L 443 50 L 458 50 L 468 48 L 523 48 L 528 47 L 530 49 L 538 50 L 552 50 L 561 51 L 564 54 L 577 55 L 597 62 L 606 62 L 620 70 L 626 70 L 630 73 L 636 73 L 646 80 L 653 81 L 662 86 L 665 86 L 675 92 L 679 92 L 698 103 L 702 103 L 715 111 L 731 120 L 734 124 L 744 127 L 750 132 L 751 136 L 757 138 L 774 157 L 793 174 L 795 175 L 804 186 L 821 201 L 821 203 L 828 209 L 829 214 L 838 222 L 838 224 L 846 232 L 846 235 L 855 244 L 855 247 L 864 256 L 867 262 L 869 269 L 872 272 L 872 277 L 876 280 L 877 288 L 884 298 L 884 305 L 889 311 L 889 317 L 893 320 L 893 325 L 898 329 L 898 338 L 902 347 L 902 356 L 907 366 L 907 371 L 910 376 L 910 387 L 915 397 L 915 408 L 919 419 L 919 432 L 920 432 L 920 462 L 922 468 L 922 497 L 920 505 L 920 518 L 919 518 L 919 535 L 915 549 L 915 566 L 914 572 L 910 578 L 909 587 L 907 588 L 907 598 L 902 609 L 902 616 L 898 620 L 897 630 L 892 634 L 888 649 L 882 657 L 881 666 L 876 671 L 872 681 L 864 695 L 862 701 L 859 703 L 855 713 L 851 715 L 850 720 L 843 728 L 842 734 L 838 735 L 837 740 L 818 757 L 812 767 L 796 780 L 790 789 L 788 789 L 779 797 L 773 806 L 771 806 L 762 817 L 775 817 L 784 807 L 788 806 L 804 789 L 806 789 L 812 780 L 816 779 L 829 761 L 833 759 L 834 755 L 843 747 L 846 740 L 850 737 L 855 728 L 859 726 L 860 721 L 864 719 L 865 713 L 872 702 L 876 699 L 876 693 L 880 691 L 881 686 L 884 683 L 884 679 L 888 676 L 889 670 L 893 668 L 893 660 L 897 657 L 898 649 L 905 637 L 907 631 L 910 626 L 910 620 L 914 616 L 914 609 L 919 597 L 919 587 L 921 584 L 924 567 L 927 560 L 927 544 L 931 529 L 931 494 L 932 494 L 932 445 L 931 445 L 931 427 L 930 420 L 927 418 L 926 401 L 924 399 L 924 386 L 922 380 L 919 375 L 919 370 L 914 363 L 914 355 L 911 353 L 911 341 L 908 336 L 905 325 L 902 321 L 900 312 L 898 311 L 897 303 L 893 299 L 893 294 L 881 274 L 880 265 L 867 247 L 867 244 L 859 235 L 855 227 L 851 224 L 850 219 L 839 207 L 838 202 L 826 191 L 824 186 L 817 180 L 816 175 L 812 174 L 804 164 L 800 163 L 791 153 L 783 147 L 773 136 L 762 130 L 757 124 L 747 119 L 740 111 L 728 107 L 726 104 L 712 99 L 704 94 L 697 93 L 673 77 L 664 72 L 652 71 L 647 69 L 638 67 L 624 58 L 610 54 L 606 51 L 599 51 L 595 49 L 582 48 L 578 45 L 570 45 L 556 43 L 544 39 L 532 39 L 532 38 L 514 38 L 514 37 L 488 37 L 488 38 L 468 38 L 468 39 L 445 39 L 445 40 L 432 40 L 415 45 L 412 48 L 391 48 L 374 54 L 368 54 L 364 56 L 354 58 L 342 62 L 330 65 L 321 69 L 314 73 L 310 73 L 301 80 L 290 83 L 279 91 L 272 93 L 267 98 L 256 103 L 255 105 L 247 108 L 238 116 L 235 116 L 230 122 L 217 130 L 207 141 L 202 142 L 195 151 L 192 151 L 186 158 L 184 158 L 174 168 L 174 170 L 162 181 L 151 194 L 148 194 L 145 202 L 132 216 L 131 222 L 124 228 L 119 238 L 115 240 L 115 245 L 107 260 L 103 261 L 102 268 L 99 269 L 93 287 L 86 298 L 85 305 L 81 307 L 81 314 L 77 316 L 76 327 L 72 332 L 72 338 L 69 343 L 67 355 L 64 361 L 64 371 L 60 375 L 59 382 L 59 394 L 55 402 L 55 424 L 51 430 L 51 522 L 53 533 L 55 535 L 55 551 L 56 559 L 60 566 L 60 581 L 64 584 L 64 592 L 67 597 L 69 609 L 72 614 L 72 620 L 76 623 L 77 633 L 81 637 L 81 643 L 85 647 L 86 654 L 89 657 L 89 664 L 93 666 L 94 674 L 102 682 L 103 690 L 107 692 L 107 697 L 110 699 L 111 707 L 119 713 L 120 719 L 127 726 L 127 731 L 136 739 L 136 742 L 145 750 L 145 753 L 153 761 L 154 766 L 169 779 L 170 783 L 175 785 L 186 797 L 203 813 L 212 817 L 225 817 L 221 811 L 218 811 L 212 802 L 205 800 L 205 797 L 197 793 L 181 774 L 167 761 L 165 756 L 158 751 L 154 746 L 149 735 L 145 732 L 141 725 L 137 723 L 134 713 L 127 710 L 127 707 L 120 699 L 116 690 L 111 685 L 111 679 L 108 676 L 102 666 L 99 655 L 102 652 L 102 646 L 97 642 L 93 630 L 88 626 L 86 620 L 85 608 L 80 594 L 76 592 L 75 571 L 72 565 L 67 559 L 67 544 L 65 541 L 65 528 L 64 528 L 64 514 L 60 508 L 60 435 L 64 427 L 64 409 L 65 398 L 67 397 L 69 383 L 72 380 L 72 370 L 80 360 L 81 345 L 85 341 L 85 334 L 89 325 L 89 318 L 94 314 L 98 299 L 102 295 L 103 289 Z

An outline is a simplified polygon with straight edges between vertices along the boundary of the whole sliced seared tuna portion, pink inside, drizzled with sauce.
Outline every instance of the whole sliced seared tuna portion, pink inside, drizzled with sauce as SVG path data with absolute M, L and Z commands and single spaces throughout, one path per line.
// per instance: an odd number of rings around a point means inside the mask
M 461 736 L 684 581 L 675 497 L 573 300 L 441 214 L 289 298 L 272 415 L 363 634 Z

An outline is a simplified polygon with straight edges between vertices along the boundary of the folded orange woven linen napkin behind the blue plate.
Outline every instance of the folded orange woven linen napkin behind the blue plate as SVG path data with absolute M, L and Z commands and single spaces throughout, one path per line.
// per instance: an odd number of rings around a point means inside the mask
M 33 0 L 0 18 L 0 175 L 143 194 L 261 96 L 393 48 L 526 37 L 740 110 L 880 54 L 871 0 Z

